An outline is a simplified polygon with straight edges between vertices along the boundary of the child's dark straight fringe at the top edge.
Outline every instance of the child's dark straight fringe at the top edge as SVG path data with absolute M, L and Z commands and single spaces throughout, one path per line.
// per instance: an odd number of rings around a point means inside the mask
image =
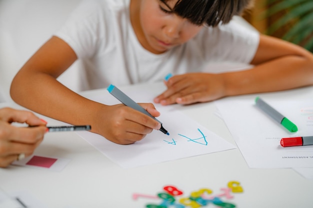
M 164 4 L 168 0 L 160 0 Z M 167 5 L 167 4 L 166 4 Z M 171 11 L 193 24 L 216 26 L 228 23 L 233 15 L 240 15 L 251 0 L 178 0 Z

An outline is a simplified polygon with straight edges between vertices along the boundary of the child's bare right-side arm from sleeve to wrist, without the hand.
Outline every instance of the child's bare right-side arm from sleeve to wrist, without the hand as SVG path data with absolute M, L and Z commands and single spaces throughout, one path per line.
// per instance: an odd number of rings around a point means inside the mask
M 226 96 L 313 84 L 313 55 L 295 44 L 260 35 L 251 70 L 225 74 Z

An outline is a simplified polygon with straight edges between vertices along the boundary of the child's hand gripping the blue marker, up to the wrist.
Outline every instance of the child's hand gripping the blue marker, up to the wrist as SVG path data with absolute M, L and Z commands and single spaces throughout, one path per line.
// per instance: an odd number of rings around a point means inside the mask
M 139 105 L 153 117 L 160 115 L 152 103 Z M 94 127 L 92 132 L 122 145 L 140 141 L 153 129 L 158 130 L 161 127 L 156 120 L 124 104 L 105 106 L 104 111 L 101 110 L 96 120 L 96 124 L 92 126 Z

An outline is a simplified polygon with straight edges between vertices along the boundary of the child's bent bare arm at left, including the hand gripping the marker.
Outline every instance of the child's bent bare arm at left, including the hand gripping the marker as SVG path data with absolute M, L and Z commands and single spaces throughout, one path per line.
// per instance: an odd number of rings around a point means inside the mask
M 91 131 L 118 144 L 141 140 L 160 124 L 124 105 L 107 106 L 88 100 L 56 78 L 77 59 L 71 47 L 58 37 L 49 39 L 14 77 L 12 99 L 42 115 L 72 124 L 91 125 Z M 152 104 L 142 104 L 159 116 Z

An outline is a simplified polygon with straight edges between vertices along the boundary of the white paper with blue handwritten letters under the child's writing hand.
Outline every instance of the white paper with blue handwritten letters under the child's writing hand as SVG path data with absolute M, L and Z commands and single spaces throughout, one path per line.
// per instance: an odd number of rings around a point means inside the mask
M 145 89 L 140 92 L 127 90 L 123 92 L 135 102 L 152 102 L 155 96 Z M 108 92 L 91 99 L 108 105 L 120 103 Z M 161 113 L 157 119 L 163 123 L 169 135 L 153 131 L 143 140 L 131 145 L 118 145 L 90 132 L 78 132 L 78 135 L 123 168 L 145 166 L 235 148 L 172 106 L 156 105 L 156 109 Z

